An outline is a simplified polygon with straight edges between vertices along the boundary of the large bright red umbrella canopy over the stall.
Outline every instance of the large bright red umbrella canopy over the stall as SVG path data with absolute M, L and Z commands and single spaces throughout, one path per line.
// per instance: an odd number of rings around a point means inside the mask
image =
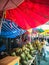
M 49 5 L 26 0 L 19 7 L 6 11 L 6 18 L 22 29 L 34 28 L 49 20 Z

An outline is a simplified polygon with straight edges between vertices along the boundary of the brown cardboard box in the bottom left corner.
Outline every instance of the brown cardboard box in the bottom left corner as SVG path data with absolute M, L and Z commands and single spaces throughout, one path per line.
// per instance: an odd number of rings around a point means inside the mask
M 0 65 L 19 65 L 19 57 L 7 56 L 0 60 Z

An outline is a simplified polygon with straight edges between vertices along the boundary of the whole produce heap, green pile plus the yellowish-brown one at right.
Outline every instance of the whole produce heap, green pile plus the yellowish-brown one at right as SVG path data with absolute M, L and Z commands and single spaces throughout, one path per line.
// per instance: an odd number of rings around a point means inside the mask
M 12 56 L 20 57 L 20 65 L 27 65 L 27 62 L 33 59 L 36 50 L 41 52 L 42 44 L 38 40 L 35 40 L 34 43 L 28 43 L 24 45 L 22 48 L 16 48 L 15 52 L 13 52 Z

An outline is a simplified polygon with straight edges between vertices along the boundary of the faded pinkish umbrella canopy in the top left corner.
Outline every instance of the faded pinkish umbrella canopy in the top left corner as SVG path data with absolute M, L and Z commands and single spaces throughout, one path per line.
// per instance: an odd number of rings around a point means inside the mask
M 0 11 L 16 8 L 23 1 L 24 0 L 0 0 Z

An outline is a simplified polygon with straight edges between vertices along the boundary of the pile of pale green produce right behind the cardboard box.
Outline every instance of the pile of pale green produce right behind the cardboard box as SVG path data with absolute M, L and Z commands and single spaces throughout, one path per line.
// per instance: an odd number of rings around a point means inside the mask
M 28 60 L 33 59 L 35 49 L 31 43 L 24 45 L 22 48 L 16 48 L 16 51 L 13 52 L 12 56 L 20 56 L 20 65 L 27 65 Z

